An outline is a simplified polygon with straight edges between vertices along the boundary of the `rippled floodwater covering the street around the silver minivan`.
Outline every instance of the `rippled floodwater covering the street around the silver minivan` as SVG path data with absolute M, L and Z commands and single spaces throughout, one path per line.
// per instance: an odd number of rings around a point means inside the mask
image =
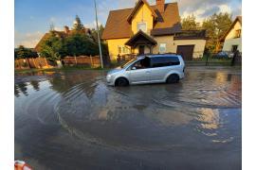
M 15 75 L 15 160 L 34 169 L 241 169 L 242 74 L 114 88 L 105 72 Z

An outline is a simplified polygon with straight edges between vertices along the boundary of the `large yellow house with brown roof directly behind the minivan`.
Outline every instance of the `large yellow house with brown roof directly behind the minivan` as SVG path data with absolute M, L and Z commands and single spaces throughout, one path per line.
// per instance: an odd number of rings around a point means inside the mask
M 177 3 L 138 0 L 134 8 L 111 10 L 102 39 L 111 59 L 129 54 L 177 53 L 184 59 L 203 56 L 205 30 L 182 30 Z

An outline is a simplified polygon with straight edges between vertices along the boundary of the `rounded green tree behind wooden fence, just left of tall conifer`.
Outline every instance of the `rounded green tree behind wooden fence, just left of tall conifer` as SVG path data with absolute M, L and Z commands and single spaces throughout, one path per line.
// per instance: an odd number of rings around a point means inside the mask
M 46 59 L 55 61 L 61 59 L 62 51 L 63 40 L 54 31 L 50 31 L 49 37 L 41 44 L 40 53 Z

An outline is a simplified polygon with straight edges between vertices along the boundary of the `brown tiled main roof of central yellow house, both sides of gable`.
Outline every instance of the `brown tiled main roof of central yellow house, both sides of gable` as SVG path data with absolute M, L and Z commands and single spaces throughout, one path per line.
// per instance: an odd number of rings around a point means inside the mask
M 177 3 L 165 4 L 163 13 L 160 13 L 156 6 L 151 6 L 151 8 L 153 8 L 157 15 L 152 35 L 173 34 L 173 32 L 180 30 L 181 26 Z M 102 39 L 108 40 L 132 37 L 132 27 L 127 22 L 127 18 L 129 18 L 133 10 L 134 8 L 111 10 L 103 31 Z

